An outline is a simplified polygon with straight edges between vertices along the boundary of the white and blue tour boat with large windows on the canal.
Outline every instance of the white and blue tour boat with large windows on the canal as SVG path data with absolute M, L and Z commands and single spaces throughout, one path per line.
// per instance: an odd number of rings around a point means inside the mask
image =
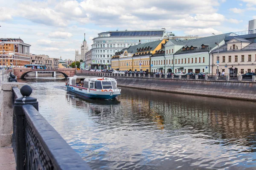
M 116 79 L 109 77 L 68 77 L 67 91 L 94 99 L 115 99 L 121 94 L 121 89 L 116 87 Z

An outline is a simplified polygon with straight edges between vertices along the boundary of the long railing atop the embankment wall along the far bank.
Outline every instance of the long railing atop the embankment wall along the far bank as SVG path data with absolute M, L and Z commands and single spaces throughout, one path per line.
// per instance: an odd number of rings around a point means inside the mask
M 150 78 L 150 79 L 189 79 L 189 80 L 201 80 L 201 81 L 249 81 L 249 82 L 256 82 L 256 76 L 247 77 L 247 79 L 242 79 L 242 76 L 218 76 L 218 75 L 205 75 L 204 77 L 198 75 L 196 76 L 189 76 L 189 75 L 166 75 L 166 74 L 118 74 L 118 73 L 99 73 L 99 72 L 93 72 L 93 71 L 85 71 L 85 72 L 77 72 L 76 75 L 85 75 L 85 76 L 110 76 L 110 77 L 136 77 L 136 78 Z

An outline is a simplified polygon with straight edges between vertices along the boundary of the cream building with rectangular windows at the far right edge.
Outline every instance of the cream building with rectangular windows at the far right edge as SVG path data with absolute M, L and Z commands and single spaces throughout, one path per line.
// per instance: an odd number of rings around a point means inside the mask
M 247 37 L 240 38 L 240 37 Z M 219 53 L 218 53 L 219 51 Z M 237 76 L 256 71 L 256 34 L 226 39 L 226 43 L 212 51 L 212 72 Z M 218 61 L 218 63 L 217 63 Z

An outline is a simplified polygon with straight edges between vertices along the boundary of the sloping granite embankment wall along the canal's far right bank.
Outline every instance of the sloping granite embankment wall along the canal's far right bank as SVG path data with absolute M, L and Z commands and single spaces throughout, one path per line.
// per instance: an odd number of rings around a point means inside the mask
M 256 101 L 255 82 L 113 77 L 120 87 Z

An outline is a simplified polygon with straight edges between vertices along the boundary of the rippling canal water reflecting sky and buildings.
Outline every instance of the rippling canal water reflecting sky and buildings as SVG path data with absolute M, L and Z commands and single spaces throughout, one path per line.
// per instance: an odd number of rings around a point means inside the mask
M 61 78 L 19 81 L 94 170 L 256 169 L 255 102 L 130 88 L 94 100 L 67 92 Z

